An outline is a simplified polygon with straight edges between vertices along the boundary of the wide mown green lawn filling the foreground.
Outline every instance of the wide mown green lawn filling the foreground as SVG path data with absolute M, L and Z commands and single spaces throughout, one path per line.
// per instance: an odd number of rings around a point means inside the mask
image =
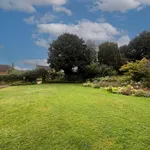
M 1 150 L 150 150 L 150 98 L 78 84 L 0 90 Z

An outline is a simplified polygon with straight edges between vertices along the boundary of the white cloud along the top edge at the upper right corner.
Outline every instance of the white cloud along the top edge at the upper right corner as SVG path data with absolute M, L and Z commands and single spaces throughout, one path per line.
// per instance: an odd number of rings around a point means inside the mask
M 145 5 L 150 5 L 150 0 L 96 0 L 95 9 L 126 12 L 131 9 L 141 9 Z

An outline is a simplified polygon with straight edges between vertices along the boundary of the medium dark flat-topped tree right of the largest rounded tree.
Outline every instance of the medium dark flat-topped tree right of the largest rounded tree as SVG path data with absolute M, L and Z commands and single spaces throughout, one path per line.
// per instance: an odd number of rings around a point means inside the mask
M 101 44 L 98 51 L 98 61 L 100 65 L 105 64 L 118 70 L 122 65 L 118 44 L 113 42 Z

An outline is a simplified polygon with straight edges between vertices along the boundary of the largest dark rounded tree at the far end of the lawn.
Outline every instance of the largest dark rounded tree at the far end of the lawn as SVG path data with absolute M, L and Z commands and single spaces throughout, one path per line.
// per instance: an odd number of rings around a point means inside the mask
M 48 63 L 57 71 L 64 70 L 67 78 L 73 74 L 81 76 L 85 67 L 91 63 L 90 54 L 90 49 L 83 39 L 77 35 L 64 33 L 50 45 Z

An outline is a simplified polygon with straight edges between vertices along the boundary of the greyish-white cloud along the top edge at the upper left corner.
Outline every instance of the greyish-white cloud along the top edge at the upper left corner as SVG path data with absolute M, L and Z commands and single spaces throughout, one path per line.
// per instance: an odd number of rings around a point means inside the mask
M 35 6 L 61 6 L 67 0 L 0 0 L 0 8 L 4 10 L 18 10 L 24 12 L 35 12 Z

